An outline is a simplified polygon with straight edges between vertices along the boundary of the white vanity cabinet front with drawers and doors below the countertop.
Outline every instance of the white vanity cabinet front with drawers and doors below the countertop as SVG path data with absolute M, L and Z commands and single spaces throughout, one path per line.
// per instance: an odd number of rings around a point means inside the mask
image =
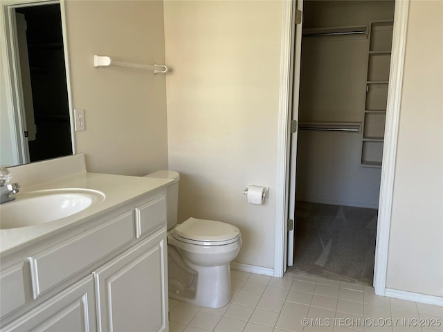
M 1 260 L 1 331 L 168 331 L 165 192 Z

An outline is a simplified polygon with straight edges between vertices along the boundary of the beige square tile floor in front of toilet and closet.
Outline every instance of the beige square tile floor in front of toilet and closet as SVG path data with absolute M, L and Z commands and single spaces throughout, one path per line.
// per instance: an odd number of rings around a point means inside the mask
M 223 308 L 170 299 L 170 332 L 443 331 L 443 307 L 377 296 L 372 287 L 293 273 L 231 277 L 233 300 Z

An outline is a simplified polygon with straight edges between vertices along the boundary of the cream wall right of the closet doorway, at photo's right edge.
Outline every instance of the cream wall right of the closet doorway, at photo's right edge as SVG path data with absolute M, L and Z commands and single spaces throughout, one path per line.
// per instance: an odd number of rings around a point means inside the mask
M 386 286 L 443 296 L 443 2 L 410 2 Z

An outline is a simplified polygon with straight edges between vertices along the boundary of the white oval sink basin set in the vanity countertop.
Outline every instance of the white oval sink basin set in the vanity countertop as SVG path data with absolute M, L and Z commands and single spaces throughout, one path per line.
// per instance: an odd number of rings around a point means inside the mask
M 0 229 L 21 228 L 72 216 L 100 203 L 105 194 L 96 190 L 61 189 L 17 194 L 0 205 Z

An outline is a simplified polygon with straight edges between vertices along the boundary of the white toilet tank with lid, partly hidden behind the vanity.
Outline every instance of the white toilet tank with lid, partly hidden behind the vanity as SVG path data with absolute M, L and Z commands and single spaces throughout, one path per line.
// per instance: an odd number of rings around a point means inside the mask
M 179 180 L 180 174 L 174 171 L 157 171 L 145 175 L 148 178 L 169 178 L 173 180 L 168 183 L 168 188 L 166 189 L 166 219 L 168 221 L 168 230 L 177 225 L 177 211 L 179 208 Z

